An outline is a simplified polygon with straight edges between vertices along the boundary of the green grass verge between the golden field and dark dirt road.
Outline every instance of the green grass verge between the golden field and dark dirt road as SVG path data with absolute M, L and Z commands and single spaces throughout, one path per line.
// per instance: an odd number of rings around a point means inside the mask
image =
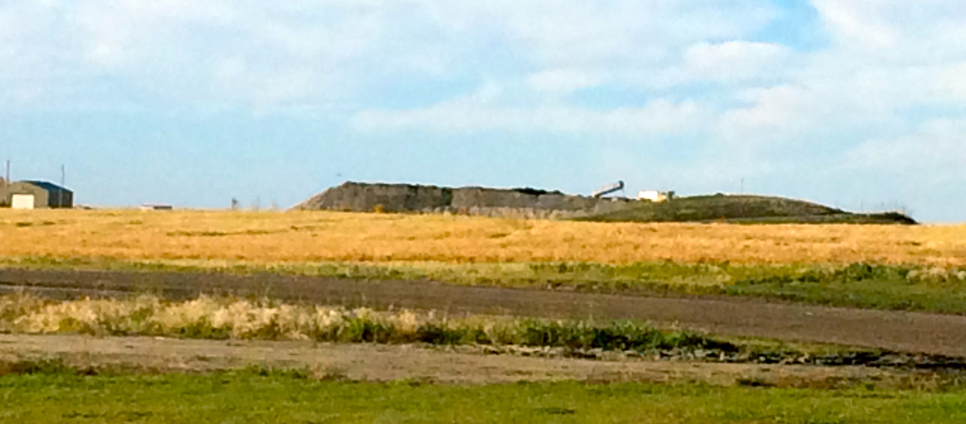
M 280 273 L 355 279 L 435 280 L 458 285 L 553 288 L 594 293 L 767 297 L 831 306 L 966 314 L 966 269 L 853 264 L 735 265 L 673 262 L 592 263 L 314 263 L 130 262 L 107 258 L 4 258 L 14 269 L 108 269 L 140 272 Z

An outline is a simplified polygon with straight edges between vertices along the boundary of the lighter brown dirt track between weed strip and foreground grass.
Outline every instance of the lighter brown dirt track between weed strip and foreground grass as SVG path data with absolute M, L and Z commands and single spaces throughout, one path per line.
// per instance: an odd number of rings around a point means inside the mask
M 362 382 L 707 382 L 716 385 L 835 388 L 860 382 L 917 383 L 928 374 L 867 367 L 714 364 L 485 354 L 474 348 L 333 345 L 311 342 L 179 340 L 149 337 L 0 334 L 0 361 L 59 358 L 80 369 L 214 372 L 258 366 L 305 369 L 313 377 Z

